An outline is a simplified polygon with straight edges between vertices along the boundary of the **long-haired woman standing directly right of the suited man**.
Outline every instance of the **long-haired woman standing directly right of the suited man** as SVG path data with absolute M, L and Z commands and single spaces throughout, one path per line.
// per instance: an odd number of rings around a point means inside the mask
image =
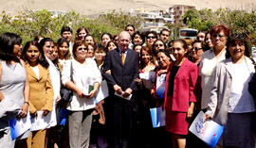
M 137 134 L 135 140 L 139 143 L 138 147 L 147 147 L 151 143 L 149 140 L 152 132 L 150 107 L 155 107 L 151 97 L 151 90 L 154 88 L 155 83 L 155 67 L 152 51 L 147 47 L 142 47 L 139 55 L 139 78 L 136 79 L 137 91 L 135 93 L 135 106 L 137 108 Z

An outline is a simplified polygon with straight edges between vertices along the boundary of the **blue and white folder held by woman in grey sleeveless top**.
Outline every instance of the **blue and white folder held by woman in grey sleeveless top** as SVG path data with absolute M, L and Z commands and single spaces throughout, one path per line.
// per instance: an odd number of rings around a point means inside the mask
M 11 140 L 15 140 L 17 137 L 24 134 L 31 127 L 30 114 L 27 113 L 27 117 L 17 120 L 16 118 L 9 120 L 10 136 Z

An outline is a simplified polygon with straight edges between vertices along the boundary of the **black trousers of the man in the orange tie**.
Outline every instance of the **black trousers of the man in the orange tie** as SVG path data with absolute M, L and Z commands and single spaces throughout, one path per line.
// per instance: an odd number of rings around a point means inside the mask
M 133 102 L 110 95 L 105 99 L 109 148 L 132 148 L 134 136 Z

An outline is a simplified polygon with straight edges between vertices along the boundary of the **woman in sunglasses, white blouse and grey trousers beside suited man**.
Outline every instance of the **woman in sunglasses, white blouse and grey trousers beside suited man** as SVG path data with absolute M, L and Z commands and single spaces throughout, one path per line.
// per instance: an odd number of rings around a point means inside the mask
M 93 59 L 85 58 L 87 51 L 86 42 L 75 42 L 74 58 L 66 62 L 62 72 L 64 86 L 73 90 L 72 100 L 67 105 L 70 148 L 89 146 L 94 97 L 101 85 L 101 72 Z

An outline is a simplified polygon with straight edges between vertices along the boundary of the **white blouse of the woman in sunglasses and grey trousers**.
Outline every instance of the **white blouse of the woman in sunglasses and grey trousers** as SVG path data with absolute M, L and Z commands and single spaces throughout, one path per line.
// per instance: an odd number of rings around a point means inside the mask
M 72 78 L 70 74 L 72 74 Z M 79 89 L 84 90 L 89 85 L 94 85 L 95 82 L 101 84 L 101 72 L 93 59 L 86 58 L 84 63 L 80 63 L 73 58 L 66 61 L 62 72 L 63 84 L 65 85 L 69 80 Z M 80 98 L 76 91 L 73 91 L 72 100 L 67 105 L 67 109 L 73 111 L 87 110 L 93 107 L 95 107 L 94 98 Z

